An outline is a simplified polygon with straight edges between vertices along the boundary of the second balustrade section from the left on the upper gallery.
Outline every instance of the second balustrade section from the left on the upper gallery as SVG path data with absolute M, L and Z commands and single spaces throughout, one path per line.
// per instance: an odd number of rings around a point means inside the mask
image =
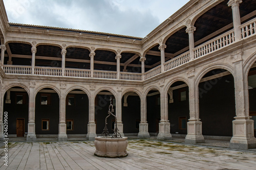
M 61 76 L 61 68 L 35 67 L 35 75 Z

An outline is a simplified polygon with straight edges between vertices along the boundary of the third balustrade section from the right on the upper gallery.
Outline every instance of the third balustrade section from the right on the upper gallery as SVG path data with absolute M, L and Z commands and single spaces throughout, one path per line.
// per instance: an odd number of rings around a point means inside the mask
M 169 60 L 166 63 L 164 63 L 164 71 L 168 71 L 168 70 L 178 67 L 182 64 L 185 64 L 189 61 L 190 61 L 189 52 L 186 52 L 186 53 L 184 53 L 178 57 L 175 57 L 174 59 Z

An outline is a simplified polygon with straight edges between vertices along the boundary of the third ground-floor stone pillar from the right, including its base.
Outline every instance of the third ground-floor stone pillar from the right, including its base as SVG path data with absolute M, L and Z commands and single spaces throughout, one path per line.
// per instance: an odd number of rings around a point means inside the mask
M 168 95 L 164 92 L 164 81 L 160 81 L 160 84 L 161 120 L 159 123 L 157 139 L 170 140 L 172 139 L 172 135 L 170 134 L 170 123 L 168 120 Z

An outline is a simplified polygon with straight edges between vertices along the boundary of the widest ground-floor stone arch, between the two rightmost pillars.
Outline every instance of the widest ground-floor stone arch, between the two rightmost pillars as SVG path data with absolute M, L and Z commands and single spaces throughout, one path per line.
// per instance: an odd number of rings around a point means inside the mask
M 201 79 L 203 78 L 203 76 L 207 72 L 209 72 L 210 70 L 213 70 L 213 69 L 217 69 L 217 68 L 226 69 L 233 76 L 233 68 L 230 65 L 223 64 L 223 63 L 210 64 L 210 65 L 205 66 L 203 69 L 201 69 L 201 72 L 196 76 L 196 78 L 195 78 L 195 86 L 196 86 L 196 88 L 198 88 L 198 85 L 199 85 Z

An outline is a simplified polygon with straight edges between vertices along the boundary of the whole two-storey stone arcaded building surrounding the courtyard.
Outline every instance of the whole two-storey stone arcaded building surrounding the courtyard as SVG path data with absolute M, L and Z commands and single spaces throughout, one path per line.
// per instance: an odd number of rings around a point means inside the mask
M 124 136 L 256 148 L 256 1 L 191 0 L 144 38 L 9 23 L 0 9 L 0 138 L 8 112 L 9 136 L 94 140 L 113 98 Z

